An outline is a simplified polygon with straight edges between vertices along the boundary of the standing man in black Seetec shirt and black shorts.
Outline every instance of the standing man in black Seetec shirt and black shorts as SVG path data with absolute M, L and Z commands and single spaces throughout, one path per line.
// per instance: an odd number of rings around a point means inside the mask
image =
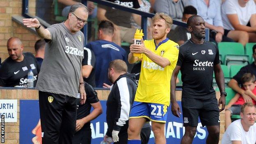
M 181 70 L 183 126 L 185 135 L 181 144 L 192 144 L 197 129 L 198 117 L 206 126 L 206 144 L 219 143 L 219 112 L 225 108 L 224 74 L 219 64 L 217 46 L 205 41 L 205 22 L 201 16 L 193 15 L 187 20 L 191 39 L 180 46 L 177 65 L 171 76 L 171 112 L 179 117 L 180 107 L 176 102 L 175 89 L 178 71 Z M 213 89 L 213 71 L 219 86 L 219 103 Z M 218 105 L 222 104 L 221 110 Z

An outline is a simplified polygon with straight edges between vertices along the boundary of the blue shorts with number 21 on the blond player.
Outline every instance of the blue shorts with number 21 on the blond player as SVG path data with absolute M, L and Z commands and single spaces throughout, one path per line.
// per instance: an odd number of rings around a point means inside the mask
M 134 101 L 130 111 L 130 119 L 144 117 L 150 121 L 166 123 L 167 110 L 167 105 Z

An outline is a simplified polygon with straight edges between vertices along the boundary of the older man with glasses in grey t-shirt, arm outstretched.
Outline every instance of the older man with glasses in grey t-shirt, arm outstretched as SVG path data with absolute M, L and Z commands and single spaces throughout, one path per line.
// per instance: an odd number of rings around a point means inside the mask
M 72 5 L 66 21 L 44 28 L 37 18 L 25 18 L 27 27 L 35 27 L 46 40 L 46 51 L 36 89 L 43 144 L 71 144 L 75 133 L 76 98 L 81 104 L 86 93 L 82 78 L 84 34 L 88 10 L 82 3 Z

